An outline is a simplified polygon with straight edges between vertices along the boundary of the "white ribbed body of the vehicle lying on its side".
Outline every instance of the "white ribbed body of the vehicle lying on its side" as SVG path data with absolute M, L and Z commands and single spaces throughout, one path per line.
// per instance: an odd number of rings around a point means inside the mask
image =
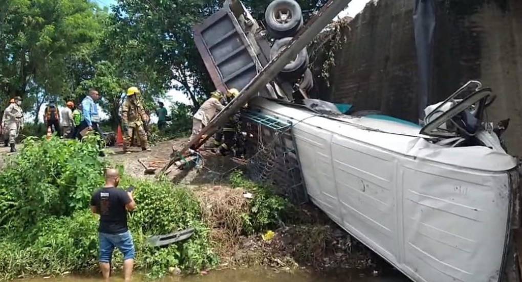
M 250 105 L 292 122 L 313 203 L 408 277 L 499 281 L 512 156 L 434 144 L 397 120 L 328 118 L 263 98 Z

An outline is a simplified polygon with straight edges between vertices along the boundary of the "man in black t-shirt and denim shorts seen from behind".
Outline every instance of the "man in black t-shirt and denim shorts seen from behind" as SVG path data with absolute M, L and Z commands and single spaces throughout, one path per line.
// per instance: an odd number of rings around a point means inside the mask
M 100 239 L 100 268 L 103 278 L 109 280 L 111 258 L 114 248 L 123 253 L 125 281 L 131 281 L 134 267 L 134 242 L 127 227 L 127 211 L 136 209 L 132 192 L 118 189 L 120 174 L 109 168 L 105 171 L 105 187 L 91 197 L 91 211 L 100 215 L 98 228 Z

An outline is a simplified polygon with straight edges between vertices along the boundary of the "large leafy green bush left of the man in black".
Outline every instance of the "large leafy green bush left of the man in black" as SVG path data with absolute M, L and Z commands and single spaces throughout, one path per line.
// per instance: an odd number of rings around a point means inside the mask
M 96 137 L 85 143 L 27 138 L 0 174 L 0 226 L 28 228 L 49 216 L 70 216 L 88 206 L 103 183 Z

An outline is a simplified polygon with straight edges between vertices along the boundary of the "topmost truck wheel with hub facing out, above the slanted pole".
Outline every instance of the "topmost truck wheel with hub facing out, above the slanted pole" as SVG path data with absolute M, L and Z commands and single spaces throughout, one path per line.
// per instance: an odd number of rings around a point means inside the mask
M 266 8 L 265 21 L 272 37 L 293 36 L 303 26 L 301 7 L 294 0 L 274 0 Z

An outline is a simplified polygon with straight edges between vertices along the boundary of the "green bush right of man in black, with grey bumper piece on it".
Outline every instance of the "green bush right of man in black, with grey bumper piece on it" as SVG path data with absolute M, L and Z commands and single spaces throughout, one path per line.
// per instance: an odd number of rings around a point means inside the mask
M 131 182 L 138 187 L 134 197 L 139 207 L 129 217 L 129 227 L 135 238 L 145 240 L 151 235 L 169 234 L 191 227 L 195 229 L 190 239 L 168 248 L 140 244 L 137 252 L 143 258 L 138 260 L 137 266 L 147 269 L 149 276 L 159 277 L 169 267 L 195 273 L 217 265 L 218 258 L 208 240 L 209 229 L 202 222 L 199 202 L 191 191 L 172 187 L 170 182 L 127 179 L 122 185 Z

